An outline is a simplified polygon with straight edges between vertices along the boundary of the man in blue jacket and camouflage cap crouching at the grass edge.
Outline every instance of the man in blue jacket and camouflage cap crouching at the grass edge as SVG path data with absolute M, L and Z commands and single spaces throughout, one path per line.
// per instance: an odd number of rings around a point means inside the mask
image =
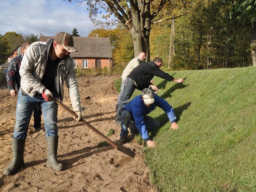
M 167 113 L 172 124 L 170 129 L 177 129 L 179 127 L 178 124 L 176 124 L 176 116 L 172 106 L 168 104 L 166 100 L 155 94 L 151 88 L 146 88 L 142 91 L 142 95 L 134 97 L 120 110 L 121 134 L 118 143 L 126 143 L 129 128 L 131 134 L 134 134 L 134 132 L 138 130 L 148 147 L 154 147 L 156 142 L 150 139 L 148 136 L 148 130 L 159 128 L 160 122 L 150 116 L 147 116 L 147 114 L 155 110 L 156 106 L 160 107 Z

